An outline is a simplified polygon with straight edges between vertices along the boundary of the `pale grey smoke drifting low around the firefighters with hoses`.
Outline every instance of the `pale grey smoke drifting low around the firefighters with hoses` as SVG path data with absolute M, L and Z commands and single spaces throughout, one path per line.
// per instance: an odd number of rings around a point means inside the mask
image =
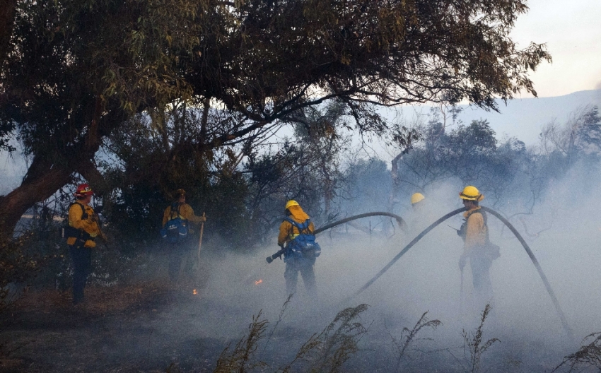
M 601 331 L 600 185 L 600 175 L 580 164 L 547 186 L 531 214 L 517 198 L 499 206 L 492 206 L 496 201 L 490 196 L 482 201 L 483 206 L 506 215 L 530 245 L 576 343 Z M 400 202 L 395 212 L 409 223 L 407 233 L 392 230 L 388 219 L 372 218 L 356 222 L 371 225 L 372 235 L 344 225 L 318 235 L 322 246 L 315 264 L 319 299 L 308 296 L 299 276 L 298 293 L 281 320 L 287 297 L 285 264 L 277 259 L 272 264 L 265 261 L 278 249 L 276 237 L 251 254 L 223 251 L 216 239 L 204 242 L 202 276 L 206 286 L 197 297 L 185 295 L 182 302 L 157 315 L 152 324 L 156 335 L 161 336 L 163 345 L 190 351 L 199 348 L 205 355 L 212 349 L 211 354 L 218 355 L 228 343 L 240 340 L 252 316 L 262 312 L 270 321 L 268 333 L 273 334 L 268 345 L 259 345 L 257 355 L 278 366 L 272 360 L 291 361 L 298 348 L 313 333 L 322 331 L 337 312 L 366 303 L 370 307 L 361 321 L 368 333 L 361 340 L 363 349 L 349 362 L 354 369 L 390 371 L 398 354 L 392 338 L 398 340 L 404 328 L 410 330 L 428 312 L 428 319 L 443 324 L 436 330 L 424 328 L 419 332 L 408 353 L 415 360 L 407 360 L 407 365 L 465 370 L 457 362 L 463 359 L 462 331 L 475 330 L 482 309 L 472 302 L 469 265 L 462 285 L 458 266 L 462 240 L 448 227 L 460 227 L 460 215 L 432 230 L 370 288 L 351 298 L 421 230 L 460 208 L 457 194 L 461 189 L 462 185 L 453 180 L 432 186 L 424 191 L 427 205 L 419 213 L 412 211 L 409 201 Z M 364 202 L 355 201 L 357 206 Z M 348 211 L 349 215 L 360 212 Z M 490 348 L 488 364 L 513 372 L 548 371 L 577 345 L 567 338 L 549 294 L 518 239 L 493 216 L 488 223 L 491 241 L 501 247 L 501 257 L 491 267 L 493 309 L 484 324 L 484 340 L 499 338 L 501 343 Z M 508 362 L 519 362 L 519 367 L 508 367 Z

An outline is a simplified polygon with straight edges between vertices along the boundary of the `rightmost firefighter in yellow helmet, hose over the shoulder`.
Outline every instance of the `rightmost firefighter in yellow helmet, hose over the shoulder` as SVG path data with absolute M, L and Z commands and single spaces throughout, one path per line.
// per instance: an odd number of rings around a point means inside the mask
M 486 226 L 486 214 L 480 211 L 479 202 L 484 199 L 475 186 L 466 186 L 459 194 L 465 206 L 464 223 L 457 235 L 464 241 L 463 254 L 459 259 L 459 268 L 463 268 L 469 259 L 472 268 L 474 298 L 479 302 L 491 303 L 494 296 L 489 269 L 495 259 L 489 253 L 489 232 Z M 479 304 L 479 307 L 483 304 Z

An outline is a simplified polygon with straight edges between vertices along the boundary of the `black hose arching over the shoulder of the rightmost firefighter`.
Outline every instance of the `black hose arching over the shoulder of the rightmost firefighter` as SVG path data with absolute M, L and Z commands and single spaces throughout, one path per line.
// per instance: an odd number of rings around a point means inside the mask
M 382 276 L 386 271 L 388 271 L 388 268 L 390 268 L 392 266 L 392 264 L 395 264 L 395 262 L 397 260 L 399 260 L 401 258 L 401 256 L 403 256 L 407 251 L 409 251 L 409 249 L 411 249 L 413 247 L 413 245 L 416 244 L 421 239 L 421 237 L 424 237 L 426 234 L 428 234 L 428 232 L 430 232 L 431 230 L 433 230 L 437 225 L 439 225 L 440 223 L 443 223 L 443 221 L 445 221 L 448 218 L 450 218 L 452 216 L 455 216 L 458 213 L 461 213 L 463 211 L 465 211 L 465 208 L 457 208 L 457 210 L 451 211 L 450 213 L 444 215 L 442 218 L 436 220 L 434 223 L 432 223 L 431 225 L 429 225 L 417 237 L 415 237 L 414 239 L 412 239 L 412 242 L 409 242 L 409 244 L 407 244 L 407 246 L 405 246 L 401 250 L 401 252 L 399 252 L 399 254 L 397 254 L 397 256 L 395 256 L 394 258 L 392 258 L 392 260 L 388 264 L 386 264 L 386 266 L 384 268 L 382 268 L 382 270 L 380 272 L 378 272 L 375 276 L 373 276 L 373 278 L 371 280 L 369 280 L 365 285 L 363 285 L 363 287 L 361 289 L 357 290 L 351 296 L 351 298 L 356 297 L 357 295 L 361 294 L 361 292 L 363 292 L 363 290 L 366 290 L 367 288 L 369 288 L 370 285 L 375 282 L 375 280 L 378 280 L 378 278 L 380 278 L 380 276 Z M 520 235 L 520 233 L 517 230 L 515 230 L 515 227 L 513 227 L 513 225 L 511 225 L 507 221 L 506 218 L 503 218 L 503 216 L 501 214 L 497 213 L 494 210 L 491 210 L 491 208 L 487 208 L 487 207 L 484 207 L 484 206 L 482 206 L 482 211 L 486 211 L 488 213 L 491 213 L 492 215 L 495 215 L 496 218 L 498 218 L 499 220 L 501 220 L 501 222 L 503 222 L 503 224 L 505 224 L 509 228 L 509 230 L 511 232 L 513 232 L 513 234 L 515 235 L 515 237 L 518 237 L 518 240 L 520 241 L 520 243 L 522 244 L 522 246 L 526 250 L 526 253 L 528 254 L 528 256 L 530 256 L 530 260 L 532 260 L 532 263 L 537 268 L 539 276 L 542 279 L 542 282 L 544 283 L 545 288 L 547 288 L 547 292 L 549 292 L 549 296 L 551 296 L 551 300 L 553 301 L 553 304 L 555 306 L 556 312 L 559 315 L 559 319 L 561 320 L 561 325 L 564 326 L 564 330 L 568 334 L 568 337 L 571 338 L 572 341 L 574 341 L 573 333 L 571 331 L 570 326 L 568 326 L 568 321 L 566 320 L 566 316 L 564 316 L 564 312 L 561 311 L 561 307 L 559 307 L 559 302 L 557 301 L 557 298 L 555 297 L 555 294 L 554 294 L 553 290 L 551 289 L 551 285 L 549 284 L 549 281 L 547 280 L 547 276 L 544 276 L 542 268 L 541 268 L 540 264 L 538 263 L 537 259 L 535 258 L 535 254 L 532 253 L 532 250 L 530 250 L 530 247 L 528 247 L 528 244 L 524 241 L 524 239 Z

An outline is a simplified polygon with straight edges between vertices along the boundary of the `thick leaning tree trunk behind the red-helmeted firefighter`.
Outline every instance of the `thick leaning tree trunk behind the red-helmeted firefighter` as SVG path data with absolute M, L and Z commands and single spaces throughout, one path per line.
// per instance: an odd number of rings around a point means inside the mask
M 68 168 L 34 158 L 21 185 L 6 196 L 0 196 L 0 240 L 12 237 L 21 215 L 28 208 L 48 199 L 66 184 L 71 175 Z

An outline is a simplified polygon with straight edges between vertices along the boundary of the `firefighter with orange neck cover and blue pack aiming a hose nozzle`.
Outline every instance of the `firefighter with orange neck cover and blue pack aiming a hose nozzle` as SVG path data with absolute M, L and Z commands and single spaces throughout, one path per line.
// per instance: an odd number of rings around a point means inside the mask
M 286 244 L 286 251 L 284 251 L 284 263 L 286 263 L 286 271 L 284 271 L 284 278 L 286 279 L 286 292 L 288 295 L 296 292 L 296 283 L 298 282 L 298 272 L 301 272 L 303 276 L 303 282 L 305 283 L 305 289 L 311 297 L 317 297 L 317 287 L 315 285 L 315 272 L 313 271 L 313 265 L 315 264 L 315 258 L 319 256 L 319 251 L 313 252 L 296 251 L 293 250 L 294 244 L 291 244 L 294 239 L 299 235 L 310 235 L 313 236 L 315 225 L 310 222 L 309 215 L 303 211 L 303 208 L 296 201 L 288 201 L 284 210 L 287 218 L 279 226 L 278 245 L 284 248 Z M 291 223 L 297 223 L 296 225 Z M 308 222 L 308 224 L 306 224 Z M 298 229 L 298 225 L 305 224 L 305 229 L 301 231 Z M 313 236 L 314 237 L 314 236 Z M 315 242 L 314 242 L 315 243 Z M 318 246 L 317 246 L 318 247 Z

